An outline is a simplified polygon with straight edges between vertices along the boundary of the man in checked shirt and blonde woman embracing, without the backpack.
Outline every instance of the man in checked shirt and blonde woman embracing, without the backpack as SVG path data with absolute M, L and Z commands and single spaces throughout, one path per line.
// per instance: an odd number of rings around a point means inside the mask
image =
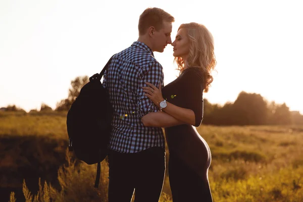
M 211 152 L 195 127 L 203 119 L 203 92 L 216 66 L 211 33 L 198 23 L 182 24 L 171 39 L 174 17 L 159 8 L 139 18 L 139 38 L 117 53 L 103 85 L 114 109 L 110 138 L 109 202 L 158 201 L 168 173 L 173 201 L 212 201 L 208 180 Z M 180 74 L 164 86 L 154 52 L 174 47 Z

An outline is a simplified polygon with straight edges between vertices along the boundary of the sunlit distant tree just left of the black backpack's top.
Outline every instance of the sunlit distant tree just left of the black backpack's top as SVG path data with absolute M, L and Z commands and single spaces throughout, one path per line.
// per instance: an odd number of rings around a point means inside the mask
M 62 99 L 57 103 L 57 111 L 68 111 L 71 108 L 71 105 L 75 101 L 76 97 L 79 95 L 81 88 L 88 83 L 88 76 L 78 76 L 71 81 L 71 87 L 69 88 L 68 97 Z

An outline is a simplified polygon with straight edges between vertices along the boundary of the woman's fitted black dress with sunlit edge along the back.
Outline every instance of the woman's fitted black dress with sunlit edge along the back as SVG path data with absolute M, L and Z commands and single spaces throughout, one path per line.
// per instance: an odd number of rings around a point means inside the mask
M 203 119 L 203 76 L 197 68 L 188 68 L 162 89 L 170 103 L 191 109 L 195 125 Z M 169 147 L 169 180 L 173 201 L 213 201 L 208 180 L 211 151 L 207 142 L 191 125 L 165 128 Z

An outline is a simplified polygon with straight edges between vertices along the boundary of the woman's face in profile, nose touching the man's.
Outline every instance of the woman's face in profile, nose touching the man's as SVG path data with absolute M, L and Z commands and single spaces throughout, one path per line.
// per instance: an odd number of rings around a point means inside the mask
M 189 53 L 189 38 L 185 28 L 179 29 L 172 46 L 174 46 L 174 57 L 181 57 L 183 60 L 186 60 Z

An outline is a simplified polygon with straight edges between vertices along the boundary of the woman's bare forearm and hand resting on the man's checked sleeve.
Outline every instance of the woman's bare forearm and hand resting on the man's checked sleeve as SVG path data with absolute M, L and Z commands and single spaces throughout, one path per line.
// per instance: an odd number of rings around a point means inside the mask
M 158 89 L 155 85 L 151 83 L 148 82 L 145 83 L 150 86 L 150 87 L 143 87 L 143 91 L 146 92 L 145 95 L 148 98 L 150 98 L 157 107 L 160 108 L 160 102 L 164 100 L 161 92 L 161 85 L 159 85 L 159 89 Z M 171 115 L 176 120 L 180 120 L 181 122 L 183 122 L 183 124 L 185 123 L 193 126 L 195 125 L 195 114 L 192 110 L 175 106 L 169 102 L 166 103 L 167 103 L 167 107 L 163 109 L 165 113 Z

